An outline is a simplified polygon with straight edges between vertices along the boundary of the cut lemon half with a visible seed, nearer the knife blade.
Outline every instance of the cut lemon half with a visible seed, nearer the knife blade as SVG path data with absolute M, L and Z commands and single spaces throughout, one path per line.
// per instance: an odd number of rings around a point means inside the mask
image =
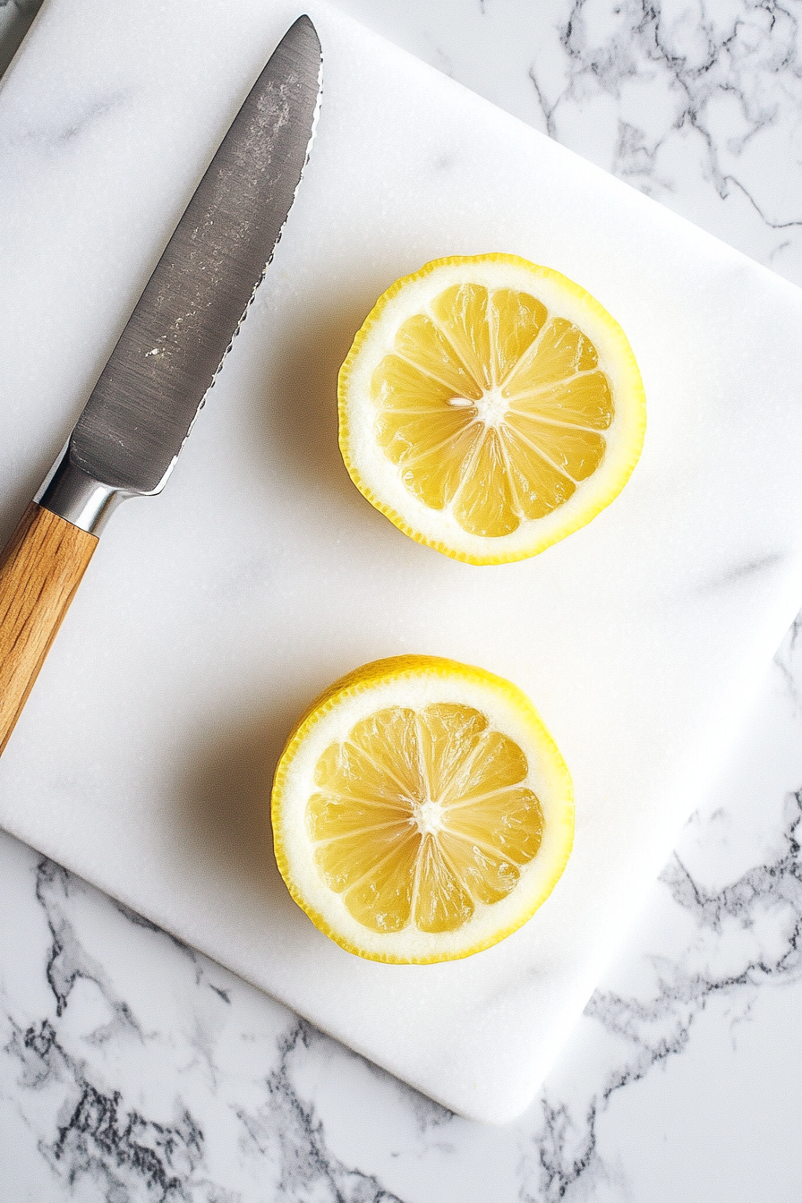
M 438 259 L 397 280 L 338 396 L 355 485 L 405 534 L 471 564 L 534 556 L 589 522 L 646 429 L 620 326 L 515 255 Z

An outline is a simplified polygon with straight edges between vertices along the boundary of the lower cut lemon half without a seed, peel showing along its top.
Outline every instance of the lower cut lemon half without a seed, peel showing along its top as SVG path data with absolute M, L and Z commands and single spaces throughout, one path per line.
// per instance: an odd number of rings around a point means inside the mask
M 376 961 L 497 943 L 552 891 L 574 837 L 571 778 L 529 699 L 432 656 L 375 660 L 321 694 L 272 805 L 292 897 Z

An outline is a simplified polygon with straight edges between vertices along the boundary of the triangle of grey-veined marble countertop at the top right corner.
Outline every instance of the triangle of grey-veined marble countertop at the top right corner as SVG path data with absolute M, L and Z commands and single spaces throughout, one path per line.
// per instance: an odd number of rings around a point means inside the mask
M 798 0 L 339 7 L 802 283 Z

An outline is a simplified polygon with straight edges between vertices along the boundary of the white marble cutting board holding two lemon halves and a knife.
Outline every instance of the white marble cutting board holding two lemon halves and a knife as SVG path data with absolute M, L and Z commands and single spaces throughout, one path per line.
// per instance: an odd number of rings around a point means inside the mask
M 77 417 L 289 0 L 47 0 L 0 95 L 0 515 Z M 284 238 L 162 497 L 101 539 L 0 760 L 0 822 L 446 1103 L 522 1110 L 802 598 L 802 294 L 314 4 L 325 95 Z M 474 568 L 351 485 L 334 383 L 379 294 L 512 251 L 620 321 L 643 457 L 583 531 Z M 416 651 L 522 686 L 576 846 L 452 965 L 341 952 L 269 851 L 271 772 L 329 681 Z

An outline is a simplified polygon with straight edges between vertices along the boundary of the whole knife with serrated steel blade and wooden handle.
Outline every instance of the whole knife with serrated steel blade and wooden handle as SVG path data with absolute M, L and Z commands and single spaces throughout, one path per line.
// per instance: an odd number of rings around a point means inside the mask
M 322 54 L 287 30 L 209 164 L 55 472 L 0 553 L 0 752 L 109 514 L 161 492 L 269 263 L 317 114 Z

